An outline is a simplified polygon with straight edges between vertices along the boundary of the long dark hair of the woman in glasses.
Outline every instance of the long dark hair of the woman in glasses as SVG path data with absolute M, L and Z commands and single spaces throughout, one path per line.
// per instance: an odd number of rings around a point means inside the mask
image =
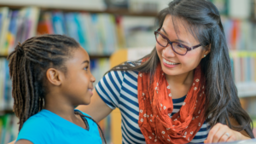
M 186 21 L 184 27 L 202 44 L 203 48 L 211 48 L 207 57 L 201 60 L 201 71 L 207 83 L 205 105 L 207 123 L 211 126 L 217 123 L 227 124 L 233 130 L 246 130 L 253 138 L 252 119 L 241 107 L 232 78 L 229 49 L 218 9 L 208 0 L 173 0 L 157 17 L 160 27 L 166 15 L 172 15 L 175 27 L 177 27 L 175 20 Z M 154 48 L 143 58 L 148 60 L 143 63 L 140 60 L 125 62 L 110 71 L 148 72 L 153 76 L 160 62 L 156 49 Z M 240 125 L 230 124 L 230 118 L 236 119 Z

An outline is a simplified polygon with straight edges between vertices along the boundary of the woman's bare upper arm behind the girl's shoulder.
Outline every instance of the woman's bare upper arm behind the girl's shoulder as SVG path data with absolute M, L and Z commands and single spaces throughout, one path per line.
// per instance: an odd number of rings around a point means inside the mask
M 92 117 L 96 122 L 100 122 L 103 118 L 106 118 L 112 109 L 102 101 L 102 98 L 96 92 L 96 89 L 93 89 L 93 95 L 90 99 L 89 105 L 80 105 L 77 107 L 80 111 L 87 113 Z

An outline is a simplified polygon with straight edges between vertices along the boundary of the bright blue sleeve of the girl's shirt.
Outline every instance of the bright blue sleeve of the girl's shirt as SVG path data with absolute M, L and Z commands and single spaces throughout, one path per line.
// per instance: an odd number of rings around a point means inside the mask
M 47 142 L 49 122 L 45 118 L 29 118 L 23 124 L 16 141 L 27 140 L 34 144 Z

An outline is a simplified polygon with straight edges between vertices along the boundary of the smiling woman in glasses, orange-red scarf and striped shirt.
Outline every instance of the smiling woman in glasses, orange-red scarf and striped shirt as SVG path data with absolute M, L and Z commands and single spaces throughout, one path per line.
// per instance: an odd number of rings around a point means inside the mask
M 207 0 L 174 0 L 160 11 L 156 45 L 96 85 L 90 106 L 102 120 L 118 107 L 124 143 L 199 143 L 253 138 L 241 108 L 218 9 Z

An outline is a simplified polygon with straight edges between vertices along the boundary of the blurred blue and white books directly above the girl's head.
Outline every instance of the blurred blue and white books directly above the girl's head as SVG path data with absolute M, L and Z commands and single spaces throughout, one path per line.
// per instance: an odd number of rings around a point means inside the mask
M 118 46 L 112 14 L 42 12 L 38 34 L 45 33 L 73 37 L 92 55 L 110 55 Z

